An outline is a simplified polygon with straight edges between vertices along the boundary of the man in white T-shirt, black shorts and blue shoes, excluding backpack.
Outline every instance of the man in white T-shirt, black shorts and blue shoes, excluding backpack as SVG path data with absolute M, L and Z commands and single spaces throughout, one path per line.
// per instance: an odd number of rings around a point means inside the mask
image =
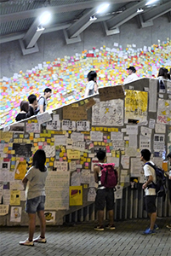
M 155 164 L 151 161 L 151 152 L 148 149 L 142 149 L 140 152 L 140 160 L 144 162 L 144 172 L 145 172 L 145 183 L 142 188 L 145 189 L 145 207 L 149 218 L 151 219 L 150 228 L 144 231 L 144 235 L 154 235 L 155 230 L 158 229 L 156 223 L 157 219 L 157 207 L 156 207 L 156 189 L 152 187 L 152 183 L 156 183 L 156 173 L 152 166 Z M 150 164 L 148 164 L 150 163 Z

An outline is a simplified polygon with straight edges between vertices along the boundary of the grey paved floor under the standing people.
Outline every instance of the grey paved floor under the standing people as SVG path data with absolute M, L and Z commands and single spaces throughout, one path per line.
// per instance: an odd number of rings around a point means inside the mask
M 96 231 L 94 223 L 48 226 L 46 244 L 20 246 L 27 238 L 27 227 L 1 227 L 1 256 L 170 256 L 170 218 L 157 219 L 159 230 L 154 236 L 143 236 L 149 220 L 116 222 L 116 230 Z M 38 227 L 35 237 L 39 235 Z

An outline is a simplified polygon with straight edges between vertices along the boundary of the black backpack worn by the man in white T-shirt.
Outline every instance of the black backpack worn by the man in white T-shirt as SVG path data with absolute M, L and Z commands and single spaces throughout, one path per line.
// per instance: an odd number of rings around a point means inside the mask
M 166 192 L 167 192 L 166 176 L 164 174 L 164 171 L 161 168 L 154 166 L 149 162 L 145 163 L 145 165 L 151 166 L 156 173 L 156 183 L 152 182 L 150 185 L 148 185 L 148 188 L 156 189 L 157 196 L 158 197 L 163 196 L 163 201 L 164 201 L 166 198 Z

